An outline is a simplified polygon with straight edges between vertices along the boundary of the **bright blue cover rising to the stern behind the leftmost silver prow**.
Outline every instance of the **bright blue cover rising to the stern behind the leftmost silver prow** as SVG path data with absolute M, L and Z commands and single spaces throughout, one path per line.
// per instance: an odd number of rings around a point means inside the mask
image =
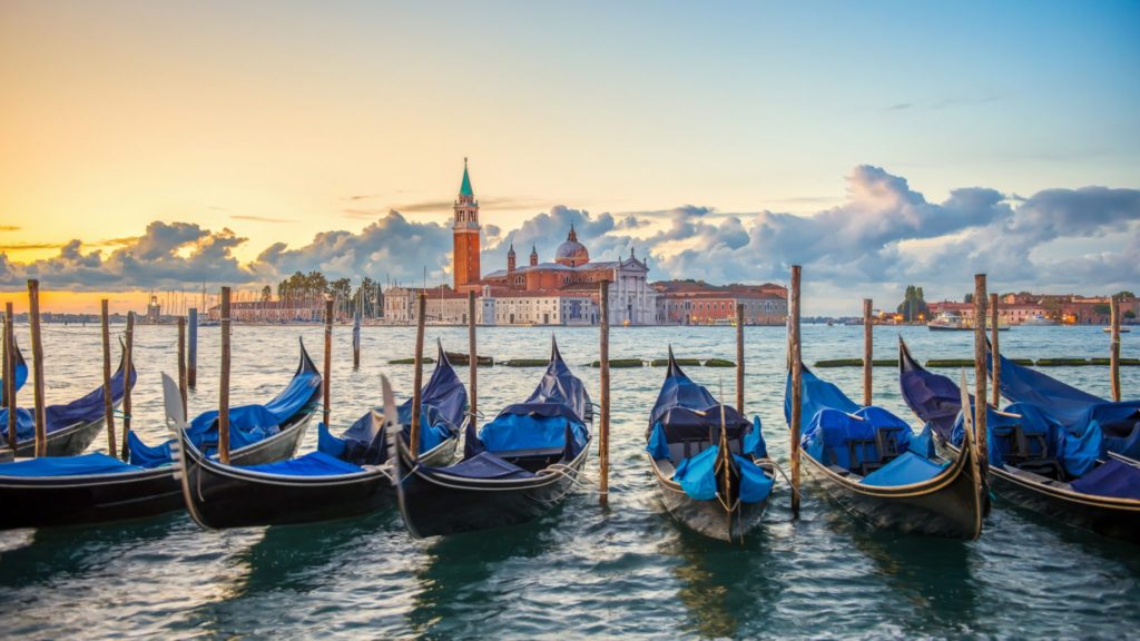
M 301 364 L 288 386 L 266 405 L 239 405 L 229 408 L 229 447 L 241 449 L 264 440 L 280 431 L 280 424 L 316 405 L 320 399 L 320 373 L 301 346 Z M 190 421 L 186 430 L 187 438 L 207 456 L 217 453 L 218 411 L 203 412 Z M 173 439 L 171 439 L 172 441 Z M 136 439 L 131 446 L 131 463 L 138 465 L 160 465 L 163 453 L 169 456 L 169 443 L 158 446 L 146 446 Z M 140 445 L 140 454 L 136 456 L 135 445 Z

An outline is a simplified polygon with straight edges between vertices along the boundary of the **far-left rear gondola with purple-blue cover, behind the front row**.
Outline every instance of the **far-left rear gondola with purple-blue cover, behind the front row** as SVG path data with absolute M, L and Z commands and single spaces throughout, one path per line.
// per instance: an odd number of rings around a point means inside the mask
M 19 352 L 17 351 L 17 355 Z M 23 357 L 18 357 L 23 363 Z M 119 360 L 119 368 L 111 376 L 111 398 L 115 407 L 123 400 L 123 366 L 127 354 Z M 25 365 L 26 368 L 26 365 Z M 18 370 L 17 370 L 18 373 Z M 25 373 L 26 378 L 27 374 Z M 131 367 L 131 389 L 138 380 L 138 372 Z M 16 383 L 21 379 L 16 376 Z M 91 390 L 85 396 L 71 403 L 49 405 L 43 408 L 44 430 L 48 436 L 48 456 L 74 456 L 83 451 L 99 436 L 106 415 L 104 414 L 103 386 Z M 8 409 L 0 408 L 0 430 L 8 424 Z M 16 409 L 16 457 L 35 455 L 35 421 L 32 411 L 19 407 Z

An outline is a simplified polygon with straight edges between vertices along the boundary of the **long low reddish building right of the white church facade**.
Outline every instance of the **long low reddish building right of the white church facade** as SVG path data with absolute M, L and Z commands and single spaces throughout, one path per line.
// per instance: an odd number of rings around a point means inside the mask
M 746 325 L 783 325 L 788 320 L 788 290 L 763 285 L 709 285 L 703 281 L 662 281 L 657 291 L 657 322 L 662 325 L 718 325 L 744 310 Z

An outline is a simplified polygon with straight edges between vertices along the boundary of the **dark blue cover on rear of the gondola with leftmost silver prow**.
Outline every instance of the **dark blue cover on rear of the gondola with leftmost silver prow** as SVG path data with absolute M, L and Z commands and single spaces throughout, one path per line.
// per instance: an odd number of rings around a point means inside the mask
M 402 425 L 405 443 L 412 438 L 412 400 L 407 399 L 397 408 L 397 419 Z M 421 392 L 420 454 L 431 451 L 449 438 L 458 437 L 466 409 L 467 390 L 440 344 L 435 368 Z M 375 438 L 372 435 L 372 411 L 357 419 L 344 430 L 340 439 L 345 444 L 348 461 L 375 465 L 388 457 L 386 437 L 378 435 L 378 438 Z

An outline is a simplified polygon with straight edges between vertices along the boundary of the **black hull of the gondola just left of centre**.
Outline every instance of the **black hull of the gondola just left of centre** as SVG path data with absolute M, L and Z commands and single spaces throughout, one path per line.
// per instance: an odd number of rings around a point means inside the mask
M 400 512 L 416 538 L 448 536 L 532 521 L 573 489 L 592 440 L 556 472 L 518 480 L 488 480 L 424 472 L 401 459 Z

